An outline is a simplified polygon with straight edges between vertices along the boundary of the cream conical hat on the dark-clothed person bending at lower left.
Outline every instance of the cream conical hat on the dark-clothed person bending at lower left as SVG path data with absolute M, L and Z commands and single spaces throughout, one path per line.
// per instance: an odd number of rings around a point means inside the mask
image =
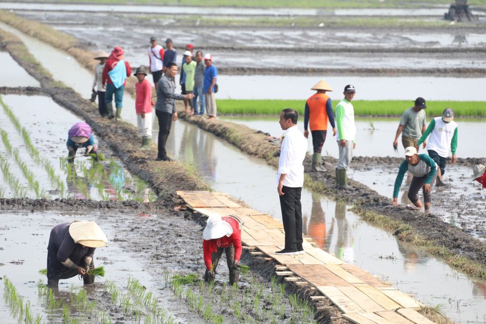
M 69 224 L 69 235 L 74 243 L 90 248 L 100 248 L 108 244 L 100 226 L 94 221 L 74 221 Z

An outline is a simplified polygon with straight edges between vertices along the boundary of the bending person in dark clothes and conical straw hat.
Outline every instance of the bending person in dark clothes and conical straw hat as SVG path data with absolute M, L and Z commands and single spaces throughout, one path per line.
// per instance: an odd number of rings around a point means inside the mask
M 47 246 L 47 285 L 57 288 L 59 279 L 76 275 L 84 284 L 92 284 L 94 276 L 87 274 L 94 269 L 96 248 L 108 243 L 102 229 L 94 221 L 74 221 L 54 226 Z

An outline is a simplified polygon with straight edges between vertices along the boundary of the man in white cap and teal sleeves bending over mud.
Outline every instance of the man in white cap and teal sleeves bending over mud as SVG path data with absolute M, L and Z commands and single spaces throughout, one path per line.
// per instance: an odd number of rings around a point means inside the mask
M 408 199 L 412 204 L 407 205 L 407 209 L 417 210 L 422 208 L 420 200 L 418 199 L 418 190 L 422 188 L 424 194 L 425 212 L 430 211 L 431 205 L 431 193 L 430 183 L 434 179 L 437 165 L 434 160 L 427 154 L 417 154 L 417 149 L 413 146 L 409 146 L 405 149 L 405 160 L 400 165 L 400 169 L 395 180 L 395 188 L 393 190 L 393 205 L 397 205 L 397 197 L 400 190 L 403 176 L 406 171 L 411 172 L 414 177 L 412 183 L 408 189 Z

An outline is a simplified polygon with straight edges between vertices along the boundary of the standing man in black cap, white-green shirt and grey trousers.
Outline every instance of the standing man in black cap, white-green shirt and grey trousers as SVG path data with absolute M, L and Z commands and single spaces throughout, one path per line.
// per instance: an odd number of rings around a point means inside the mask
M 346 171 L 353 158 L 353 150 L 356 148 L 356 125 L 354 123 L 354 107 L 351 103 L 356 94 L 356 89 L 353 85 L 346 85 L 343 94 L 344 99 L 336 106 L 336 139 L 339 147 L 336 187 L 338 189 L 349 189 Z

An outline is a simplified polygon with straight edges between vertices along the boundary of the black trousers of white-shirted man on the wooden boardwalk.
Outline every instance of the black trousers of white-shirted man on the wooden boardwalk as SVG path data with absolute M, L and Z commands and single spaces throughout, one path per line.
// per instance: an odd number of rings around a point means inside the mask
M 283 186 L 283 196 L 280 196 L 283 229 L 285 231 L 285 249 L 297 250 L 302 244 L 302 205 L 300 193 L 302 188 Z

